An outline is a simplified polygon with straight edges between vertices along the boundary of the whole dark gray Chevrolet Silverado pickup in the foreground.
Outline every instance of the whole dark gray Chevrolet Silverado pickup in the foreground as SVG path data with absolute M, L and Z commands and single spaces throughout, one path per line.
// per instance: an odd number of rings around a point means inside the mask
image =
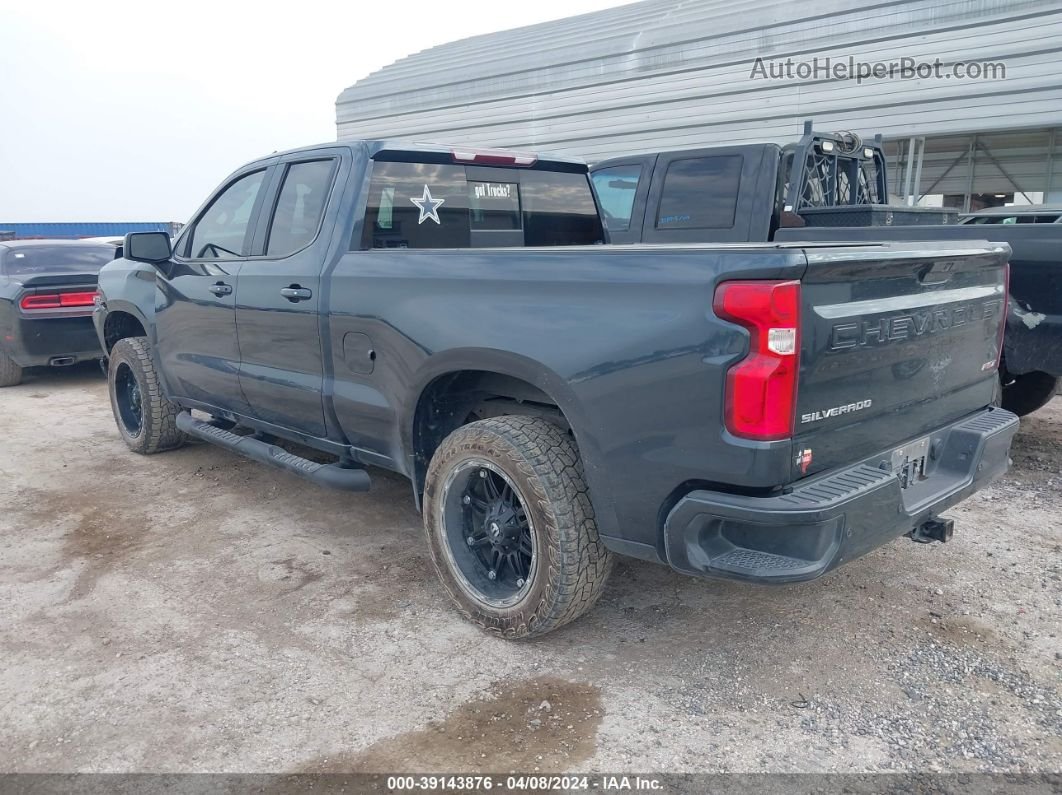
M 103 269 L 118 429 L 352 491 L 409 477 L 455 604 L 511 638 L 585 611 L 613 553 L 810 580 L 946 539 L 1006 470 L 1006 246 L 602 240 L 571 160 L 257 160 Z

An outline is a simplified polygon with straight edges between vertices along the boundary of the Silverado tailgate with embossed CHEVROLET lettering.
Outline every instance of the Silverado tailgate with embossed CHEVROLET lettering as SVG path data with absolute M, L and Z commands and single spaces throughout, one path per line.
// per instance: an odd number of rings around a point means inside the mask
M 1008 246 L 806 254 L 794 480 L 906 443 L 928 449 L 931 431 L 992 402 Z

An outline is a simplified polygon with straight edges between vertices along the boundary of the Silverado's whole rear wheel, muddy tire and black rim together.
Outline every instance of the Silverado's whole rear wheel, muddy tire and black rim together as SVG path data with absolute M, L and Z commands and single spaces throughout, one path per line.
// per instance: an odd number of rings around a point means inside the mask
M 484 419 L 447 436 L 428 468 L 424 522 L 458 610 L 506 638 L 579 618 L 612 571 L 579 452 L 545 419 Z

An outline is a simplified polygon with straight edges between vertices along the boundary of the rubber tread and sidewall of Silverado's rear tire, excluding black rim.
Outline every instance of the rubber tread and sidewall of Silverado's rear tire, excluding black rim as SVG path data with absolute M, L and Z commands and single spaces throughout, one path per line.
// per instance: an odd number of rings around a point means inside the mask
M 537 561 L 526 595 L 492 607 L 460 586 L 442 520 L 447 473 L 468 459 L 486 460 L 515 484 L 532 519 Z M 424 526 L 431 559 L 458 610 L 483 629 L 509 639 L 545 635 L 582 616 L 600 598 L 613 556 L 598 537 L 582 462 L 570 436 L 548 420 L 504 416 L 459 428 L 428 467 Z

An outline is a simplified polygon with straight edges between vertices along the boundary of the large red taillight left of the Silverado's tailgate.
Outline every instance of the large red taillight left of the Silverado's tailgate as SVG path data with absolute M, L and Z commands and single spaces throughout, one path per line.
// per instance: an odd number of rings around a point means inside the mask
M 726 374 L 723 413 L 735 436 L 789 438 L 800 369 L 800 282 L 727 281 L 716 289 L 716 314 L 749 329 L 749 355 Z

